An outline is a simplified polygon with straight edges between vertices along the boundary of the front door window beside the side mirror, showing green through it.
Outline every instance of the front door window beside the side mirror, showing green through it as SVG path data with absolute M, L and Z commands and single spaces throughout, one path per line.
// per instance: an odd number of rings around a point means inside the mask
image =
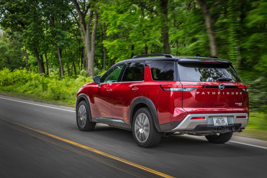
M 119 65 L 111 68 L 111 70 L 108 71 L 106 73 L 106 75 L 104 75 L 104 77 L 102 77 L 100 79 L 100 83 L 117 82 L 124 65 L 125 65 L 125 63 L 119 64 Z

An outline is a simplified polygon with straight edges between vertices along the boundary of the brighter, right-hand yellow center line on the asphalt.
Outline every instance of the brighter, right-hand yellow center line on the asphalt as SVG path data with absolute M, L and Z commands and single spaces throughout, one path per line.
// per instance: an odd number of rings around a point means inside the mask
M 5 119 L 3 119 L 3 120 L 5 120 Z M 6 120 L 6 121 L 11 122 L 11 123 L 14 123 L 14 122 L 9 121 L 9 120 Z M 147 168 L 147 167 L 142 166 L 142 165 L 140 165 L 140 164 L 136 164 L 136 163 L 130 162 L 130 161 L 128 161 L 128 160 L 125 160 L 125 159 L 122 159 L 122 158 L 120 158 L 120 157 L 111 155 L 111 154 L 109 154 L 109 153 L 105 153 L 105 152 L 103 152 L 103 151 L 99 151 L 99 150 L 97 150 L 97 149 L 94 149 L 94 148 L 91 148 L 91 147 L 87 147 L 87 146 L 85 146 L 85 145 L 82 145 L 82 144 L 79 144 L 79 143 L 76 143 L 76 142 L 67 140 L 67 139 L 65 139 L 65 138 L 61 138 L 61 137 L 59 137 L 59 136 L 55 136 L 55 135 L 53 135 L 53 134 L 49 134 L 49 133 L 44 132 L 44 131 L 41 131 L 41 130 L 31 128 L 31 127 L 29 127 L 29 126 L 27 126 L 27 125 L 23 125 L 23 124 L 19 124 L 19 123 L 14 123 L 14 124 L 16 124 L 16 125 L 20 125 L 20 126 L 22 126 L 22 127 L 25 127 L 25 128 L 27 128 L 27 129 L 31 129 L 31 130 L 33 130 L 33 131 L 39 132 L 39 133 L 41 133 L 41 134 L 44 134 L 44 135 L 47 135 L 47 136 L 50 136 L 50 137 L 56 138 L 56 139 L 58 139 L 58 140 L 61 140 L 61 141 L 64 141 L 64 142 L 73 144 L 73 145 L 75 145 L 75 146 L 78 146 L 78 147 L 87 149 L 87 150 L 89 150 L 89 151 L 98 153 L 98 154 L 100 154 L 100 155 L 107 156 L 107 157 L 112 158 L 112 159 L 114 159 L 114 160 L 123 162 L 123 163 L 125 163 L 125 164 L 129 164 L 129 165 L 131 165 L 131 166 L 134 166 L 134 167 L 137 167 L 137 168 L 139 168 L 139 169 L 145 170 L 145 171 L 147 171 L 147 172 L 150 172 L 150 173 L 159 175 L 159 176 L 161 176 L 161 177 L 174 178 L 174 177 L 172 177 L 172 176 L 169 176 L 169 175 L 167 175 L 167 174 L 161 173 L 161 172 L 156 171 L 156 170 L 154 170 L 154 169 Z

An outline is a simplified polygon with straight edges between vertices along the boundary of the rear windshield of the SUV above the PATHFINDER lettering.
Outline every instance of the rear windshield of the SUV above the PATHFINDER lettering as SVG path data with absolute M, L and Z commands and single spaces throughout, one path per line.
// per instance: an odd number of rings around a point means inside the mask
M 234 67 L 229 64 L 178 63 L 178 71 L 180 81 L 242 82 Z

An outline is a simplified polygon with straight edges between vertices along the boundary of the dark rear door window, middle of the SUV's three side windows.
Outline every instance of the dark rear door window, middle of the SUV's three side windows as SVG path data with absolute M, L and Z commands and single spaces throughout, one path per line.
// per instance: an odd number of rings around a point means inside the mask
M 122 82 L 143 81 L 144 80 L 144 63 L 129 62 L 122 77 Z

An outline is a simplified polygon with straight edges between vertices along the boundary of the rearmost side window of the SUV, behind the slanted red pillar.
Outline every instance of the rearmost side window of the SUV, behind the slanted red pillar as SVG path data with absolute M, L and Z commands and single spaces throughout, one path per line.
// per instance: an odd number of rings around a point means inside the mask
M 174 62 L 154 61 L 150 64 L 152 79 L 156 81 L 174 81 Z

